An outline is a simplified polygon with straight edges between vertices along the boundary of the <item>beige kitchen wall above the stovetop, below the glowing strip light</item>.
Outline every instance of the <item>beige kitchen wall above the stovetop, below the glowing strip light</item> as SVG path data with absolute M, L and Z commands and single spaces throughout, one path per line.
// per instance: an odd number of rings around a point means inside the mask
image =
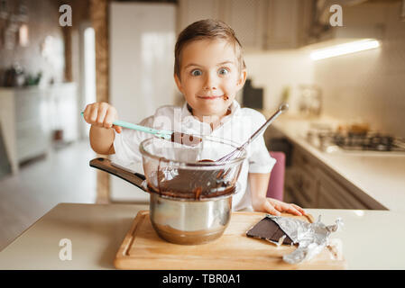
M 323 112 L 370 129 L 405 137 L 405 22 L 400 3 L 384 6 L 385 34 L 379 49 L 314 62 Z

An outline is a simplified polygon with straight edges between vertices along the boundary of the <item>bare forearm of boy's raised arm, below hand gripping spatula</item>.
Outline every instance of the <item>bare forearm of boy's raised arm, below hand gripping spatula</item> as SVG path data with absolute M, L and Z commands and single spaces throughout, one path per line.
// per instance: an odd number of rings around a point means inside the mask
M 115 132 L 113 128 L 104 128 L 91 125 L 89 137 L 90 146 L 96 153 L 102 155 L 115 154 L 113 145 Z

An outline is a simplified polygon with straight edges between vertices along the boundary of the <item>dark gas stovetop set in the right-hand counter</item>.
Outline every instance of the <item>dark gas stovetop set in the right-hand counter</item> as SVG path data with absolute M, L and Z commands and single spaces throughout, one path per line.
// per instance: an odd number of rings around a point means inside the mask
M 307 140 L 322 151 L 376 151 L 405 153 L 405 139 L 377 132 L 308 131 Z

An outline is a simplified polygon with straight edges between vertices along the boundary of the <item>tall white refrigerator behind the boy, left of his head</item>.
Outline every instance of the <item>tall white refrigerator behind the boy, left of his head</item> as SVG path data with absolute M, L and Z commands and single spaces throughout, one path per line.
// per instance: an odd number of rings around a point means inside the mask
M 109 5 L 109 94 L 120 120 L 138 123 L 159 106 L 175 102 L 175 42 L 175 4 Z M 149 202 L 148 193 L 109 177 L 111 201 Z

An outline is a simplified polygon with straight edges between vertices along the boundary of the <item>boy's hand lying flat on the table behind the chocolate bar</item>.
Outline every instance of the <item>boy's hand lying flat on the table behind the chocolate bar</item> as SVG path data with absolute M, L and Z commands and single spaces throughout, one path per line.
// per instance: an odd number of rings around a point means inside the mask
M 254 211 L 267 212 L 275 216 L 281 216 L 281 212 L 289 212 L 294 215 L 307 215 L 301 207 L 296 204 L 281 202 L 272 198 L 261 198 L 253 202 Z

